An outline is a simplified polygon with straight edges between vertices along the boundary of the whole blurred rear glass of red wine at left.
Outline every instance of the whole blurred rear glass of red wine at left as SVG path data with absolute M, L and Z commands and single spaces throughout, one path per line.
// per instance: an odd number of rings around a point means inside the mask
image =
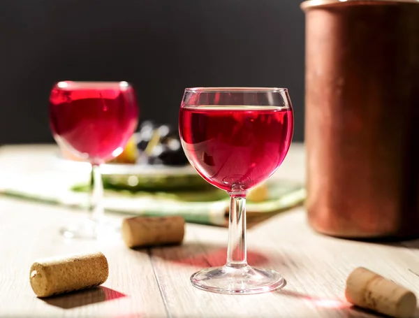
M 89 217 L 61 229 L 66 238 L 98 238 L 118 231 L 103 211 L 100 166 L 122 153 L 138 124 L 138 103 L 128 82 L 58 82 L 50 94 L 50 126 L 63 152 L 91 164 Z

